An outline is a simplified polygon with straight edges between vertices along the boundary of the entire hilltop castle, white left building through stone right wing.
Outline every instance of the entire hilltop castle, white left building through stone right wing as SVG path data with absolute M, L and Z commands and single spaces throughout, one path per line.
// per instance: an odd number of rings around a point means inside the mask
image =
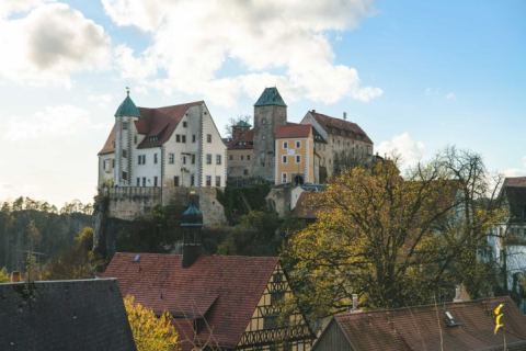
M 221 139 L 204 101 L 137 107 L 129 90 L 99 152 L 99 191 L 108 216 L 134 219 L 156 205 L 199 196 L 205 225 L 225 223 L 216 189 L 228 180 L 259 179 L 275 185 L 322 184 L 340 170 L 373 158 L 373 141 L 355 123 L 315 110 L 287 121 L 276 88 L 254 104 L 254 126 L 240 122 Z

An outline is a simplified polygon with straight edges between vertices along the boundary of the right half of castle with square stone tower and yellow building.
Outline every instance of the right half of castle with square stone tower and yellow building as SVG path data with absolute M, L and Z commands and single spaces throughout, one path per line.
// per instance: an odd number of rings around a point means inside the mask
M 340 170 L 368 162 L 373 141 L 356 124 L 316 110 L 287 122 L 287 105 L 276 88 L 254 104 L 254 127 L 242 121 L 228 140 L 228 178 L 261 178 L 274 184 L 324 183 Z

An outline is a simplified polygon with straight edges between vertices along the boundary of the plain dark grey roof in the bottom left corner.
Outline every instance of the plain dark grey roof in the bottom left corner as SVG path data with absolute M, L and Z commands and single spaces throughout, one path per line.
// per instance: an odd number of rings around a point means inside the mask
M 113 279 L 0 284 L 0 350 L 136 350 Z

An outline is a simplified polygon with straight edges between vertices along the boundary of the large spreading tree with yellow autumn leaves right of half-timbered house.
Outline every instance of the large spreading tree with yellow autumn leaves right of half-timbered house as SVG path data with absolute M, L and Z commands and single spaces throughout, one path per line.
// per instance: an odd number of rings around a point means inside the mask
M 393 162 L 378 162 L 328 184 L 318 222 L 295 234 L 284 252 L 307 312 L 347 309 L 353 293 L 368 307 L 426 304 L 449 299 L 456 284 L 469 281 L 459 279 L 470 267 L 464 257 L 471 259 L 467 252 L 476 252 L 498 210 L 479 206 L 479 196 L 466 200 L 449 165 L 438 157 L 404 180 Z M 458 219 L 467 203 L 480 220 Z

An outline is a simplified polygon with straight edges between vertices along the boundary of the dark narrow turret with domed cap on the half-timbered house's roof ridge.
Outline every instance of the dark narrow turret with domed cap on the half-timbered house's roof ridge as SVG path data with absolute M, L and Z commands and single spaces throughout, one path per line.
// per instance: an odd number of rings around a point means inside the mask
M 203 213 L 197 207 L 197 196 L 190 194 L 190 205 L 181 217 L 183 229 L 183 268 L 191 267 L 201 256 L 201 229 L 203 228 Z

